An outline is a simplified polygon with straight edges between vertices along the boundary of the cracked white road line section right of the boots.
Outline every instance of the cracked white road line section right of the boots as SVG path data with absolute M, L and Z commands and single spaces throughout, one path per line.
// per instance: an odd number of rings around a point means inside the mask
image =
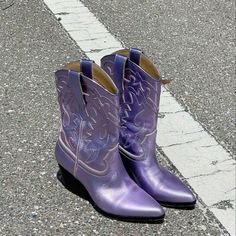
M 222 225 L 235 235 L 235 160 L 163 89 L 157 142 Z

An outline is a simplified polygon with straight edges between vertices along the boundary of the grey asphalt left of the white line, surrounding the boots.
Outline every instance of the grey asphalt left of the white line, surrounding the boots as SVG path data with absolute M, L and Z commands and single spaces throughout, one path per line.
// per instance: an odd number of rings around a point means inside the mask
M 64 188 L 54 158 L 60 114 L 53 72 L 83 52 L 42 1 L 4 4 L 0 2 L 0 235 L 227 235 L 201 199 L 192 211 L 166 209 L 163 224 L 135 224 L 100 215 Z M 162 155 L 160 160 L 179 175 Z

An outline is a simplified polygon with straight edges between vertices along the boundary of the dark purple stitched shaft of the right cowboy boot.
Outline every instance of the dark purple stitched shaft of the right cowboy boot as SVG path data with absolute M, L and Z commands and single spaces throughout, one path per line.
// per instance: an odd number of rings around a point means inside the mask
M 145 159 L 155 152 L 161 80 L 158 73 L 154 78 L 154 72 L 151 76 L 142 68 L 147 70 L 148 66 L 139 51 L 131 50 L 127 56 L 129 58 L 119 54 L 106 56 L 102 59 L 102 68 L 121 90 L 121 149 L 135 159 Z

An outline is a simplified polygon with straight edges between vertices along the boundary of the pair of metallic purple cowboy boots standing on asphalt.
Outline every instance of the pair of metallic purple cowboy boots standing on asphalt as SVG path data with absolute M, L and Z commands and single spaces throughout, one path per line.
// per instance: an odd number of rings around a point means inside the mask
M 80 182 L 94 207 L 127 221 L 162 222 L 162 206 L 196 198 L 156 159 L 161 80 L 138 49 L 82 59 L 56 73 L 61 131 L 55 155 L 66 185 Z M 164 81 L 165 82 L 165 81 Z

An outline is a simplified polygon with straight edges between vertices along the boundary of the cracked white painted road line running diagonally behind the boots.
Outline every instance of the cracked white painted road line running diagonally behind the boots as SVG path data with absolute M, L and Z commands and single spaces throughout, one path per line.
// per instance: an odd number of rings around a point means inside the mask
M 78 0 L 44 0 L 89 58 L 122 48 Z M 235 160 L 163 88 L 157 143 L 226 230 L 235 235 Z

